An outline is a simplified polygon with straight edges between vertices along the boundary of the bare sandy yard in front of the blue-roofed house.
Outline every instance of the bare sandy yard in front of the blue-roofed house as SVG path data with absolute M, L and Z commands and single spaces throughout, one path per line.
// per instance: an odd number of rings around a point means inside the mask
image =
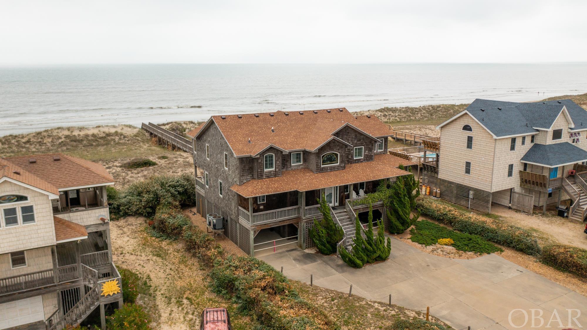
M 558 242 L 587 248 L 587 235 L 583 233 L 585 223 L 549 214 L 529 215 L 495 204 L 491 206 L 491 213 L 499 215 L 512 225 L 535 230 L 535 233 L 544 243 Z

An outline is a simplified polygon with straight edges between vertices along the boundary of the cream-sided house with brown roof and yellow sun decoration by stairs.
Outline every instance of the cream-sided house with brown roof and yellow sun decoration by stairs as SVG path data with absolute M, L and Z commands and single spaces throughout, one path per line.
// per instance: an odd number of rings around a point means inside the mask
M 62 329 L 122 304 L 122 292 L 102 295 L 104 283 L 121 285 L 106 198 L 113 183 L 102 165 L 62 153 L 0 159 L 1 329 Z

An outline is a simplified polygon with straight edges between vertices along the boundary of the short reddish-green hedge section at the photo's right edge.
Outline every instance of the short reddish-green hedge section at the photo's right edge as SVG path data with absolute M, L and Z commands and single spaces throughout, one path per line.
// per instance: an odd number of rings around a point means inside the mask
M 587 250 L 564 244 L 546 245 L 540 261 L 544 264 L 587 278 Z

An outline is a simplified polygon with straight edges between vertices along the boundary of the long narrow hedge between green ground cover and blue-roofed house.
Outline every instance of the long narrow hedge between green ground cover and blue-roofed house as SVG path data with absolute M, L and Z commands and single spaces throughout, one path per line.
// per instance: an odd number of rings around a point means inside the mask
M 540 245 L 538 245 L 538 240 L 534 234 L 524 228 L 503 223 L 495 218 L 468 214 L 429 197 L 418 197 L 416 206 L 422 214 L 448 224 L 455 230 L 479 235 L 485 240 L 514 248 L 525 254 L 539 255 L 541 253 Z

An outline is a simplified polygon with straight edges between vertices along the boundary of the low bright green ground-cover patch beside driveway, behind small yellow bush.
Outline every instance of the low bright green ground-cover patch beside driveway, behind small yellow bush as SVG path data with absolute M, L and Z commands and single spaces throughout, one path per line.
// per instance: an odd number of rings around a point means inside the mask
M 428 220 L 417 221 L 414 224 L 414 228 L 411 228 L 410 233 L 411 241 L 426 246 L 434 245 L 438 243 L 438 240 L 443 238 L 450 238 L 454 241 L 452 244 L 453 247 L 461 251 L 477 253 L 503 251 L 500 247 L 484 240 L 478 235 L 458 233 L 457 231 L 450 230 L 447 227 L 443 227 Z

